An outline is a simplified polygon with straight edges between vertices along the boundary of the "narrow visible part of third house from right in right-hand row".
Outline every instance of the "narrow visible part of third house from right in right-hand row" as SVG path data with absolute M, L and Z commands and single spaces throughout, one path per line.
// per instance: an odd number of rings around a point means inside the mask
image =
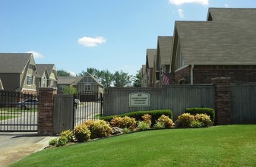
M 147 87 L 155 87 L 155 83 L 156 83 L 156 49 L 147 49 L 146 71 L 147 71 Z

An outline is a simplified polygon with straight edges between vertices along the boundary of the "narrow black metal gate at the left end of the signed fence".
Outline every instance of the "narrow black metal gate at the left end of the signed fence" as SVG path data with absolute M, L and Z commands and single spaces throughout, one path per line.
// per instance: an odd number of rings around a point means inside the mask
M 74 95 L 74 126 L 103 115 L 103 94 L 82 92 Z

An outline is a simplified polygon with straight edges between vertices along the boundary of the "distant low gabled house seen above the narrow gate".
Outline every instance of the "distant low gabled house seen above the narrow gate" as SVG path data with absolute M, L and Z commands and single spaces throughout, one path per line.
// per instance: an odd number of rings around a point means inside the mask
M 75 87 L 79 93 L 97 92 L 103 93 L 101 84 L 91 74 L 86 73 L 82 77 L 58 77 L 58 93 L 63 93 L 64 87 Z

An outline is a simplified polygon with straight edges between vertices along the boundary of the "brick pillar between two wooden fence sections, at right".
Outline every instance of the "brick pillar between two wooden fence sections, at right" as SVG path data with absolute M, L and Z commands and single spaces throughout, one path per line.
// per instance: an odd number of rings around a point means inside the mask
M 231 124 L 230 78 L 216 77 L 211 81 L 215 86 L 216 124 Z

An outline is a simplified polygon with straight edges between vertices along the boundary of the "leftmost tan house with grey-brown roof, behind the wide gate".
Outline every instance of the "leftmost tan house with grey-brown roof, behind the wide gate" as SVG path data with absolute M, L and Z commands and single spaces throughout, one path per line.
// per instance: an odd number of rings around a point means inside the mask
M 36 94 L 36 63 L 32 53 L 0 53 L 0 78 L 5 90 Z

